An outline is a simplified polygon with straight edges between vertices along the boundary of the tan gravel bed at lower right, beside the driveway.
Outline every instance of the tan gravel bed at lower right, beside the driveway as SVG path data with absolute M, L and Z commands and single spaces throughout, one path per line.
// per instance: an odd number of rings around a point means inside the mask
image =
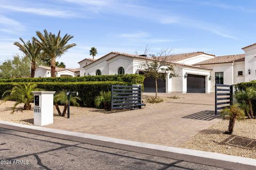
M 223 134 L 228 122 L 214 124 L 179 147 L 256 159 L 256 120 L 236 121 L 232 135 Z

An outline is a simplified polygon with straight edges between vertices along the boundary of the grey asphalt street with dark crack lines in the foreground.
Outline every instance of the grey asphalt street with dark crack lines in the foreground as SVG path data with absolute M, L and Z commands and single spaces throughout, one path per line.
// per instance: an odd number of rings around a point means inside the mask
M 90 142 L 92 143 L 92 141 Z M 220 164 L 221 165 L 221 164 Z M 226 169 L 0 128 L 0 169 Z

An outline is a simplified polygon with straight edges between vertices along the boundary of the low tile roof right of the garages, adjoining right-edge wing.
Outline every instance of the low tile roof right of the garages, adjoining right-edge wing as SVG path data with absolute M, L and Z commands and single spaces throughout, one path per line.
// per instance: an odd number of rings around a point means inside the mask
M 218 57 L 211 58 L 209 60 L 196 63 L 194 65 L 240 62 L 240 61 L 244 61 L 244 57 L 245 57 L 244 54 L 218 56 Z

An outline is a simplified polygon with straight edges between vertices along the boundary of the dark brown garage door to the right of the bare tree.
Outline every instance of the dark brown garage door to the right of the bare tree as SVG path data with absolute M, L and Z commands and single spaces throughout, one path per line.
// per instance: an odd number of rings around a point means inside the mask
M 204 75 L 188 74 L 187 92 L 205 93 L 205 76 Z

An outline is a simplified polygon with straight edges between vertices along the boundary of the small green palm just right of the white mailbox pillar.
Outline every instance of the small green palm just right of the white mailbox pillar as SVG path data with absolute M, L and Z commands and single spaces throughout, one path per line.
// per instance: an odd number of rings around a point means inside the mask
M 81 99 L 77 96 L 70 96 L 70 104 L 71 105 L 79 106 L 79 103 L 77 102 L 78 100 L 81 100 Z M 58 104 L 64 105 L 62 113 L 60 112 L 60 108 L 59 108 Z M 65 116 L 67 109 L 68 109 L 68 96 L 65 91 L 60 91 L 57 95 L 54 96 L 54 105 L 58 111 L 58 114 L 60 116 Z

